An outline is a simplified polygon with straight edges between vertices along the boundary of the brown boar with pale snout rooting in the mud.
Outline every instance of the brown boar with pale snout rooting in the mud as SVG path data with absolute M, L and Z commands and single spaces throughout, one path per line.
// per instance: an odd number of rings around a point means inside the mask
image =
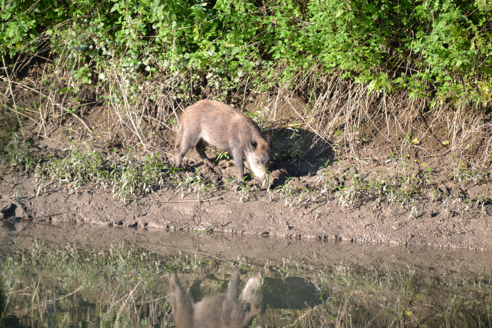
M 243 113 L 213 100 L 200 100 L 187 107 L 181 116 L 176 139 L 176 166 L 181 167 L 183 156 L 195 146 L 203 163 L 213 166 L 205 154 L 205 145 L 224 149 L 234 157 L 238 178 L 244 179 L 246 157 L 256 179 L 263 184 L 270 162 L 271 138 L 263 139 L 261 129 Z M 268 183 L 268 182 L 267 182 Z

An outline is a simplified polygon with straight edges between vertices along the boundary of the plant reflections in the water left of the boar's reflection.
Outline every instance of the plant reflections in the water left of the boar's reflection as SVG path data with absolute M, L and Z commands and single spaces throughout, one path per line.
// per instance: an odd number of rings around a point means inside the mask
M 7 314 L 26 327 L 165 322 L 168 287 L 154 283 L 163 274 L 155 259 L 133 245 L 82 251 L 35 241 L 31 249 L 11 253 L 4 265 Z M 2 320 L 12 319 L 4 314 Z

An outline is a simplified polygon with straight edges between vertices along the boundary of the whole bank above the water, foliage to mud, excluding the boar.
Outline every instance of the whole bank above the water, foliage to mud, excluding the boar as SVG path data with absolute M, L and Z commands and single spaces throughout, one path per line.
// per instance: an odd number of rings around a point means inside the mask
M 490 249 L 490 1 L 0 1 L 4 219 Z M 184 108 L 273 136 L 268 190 Z

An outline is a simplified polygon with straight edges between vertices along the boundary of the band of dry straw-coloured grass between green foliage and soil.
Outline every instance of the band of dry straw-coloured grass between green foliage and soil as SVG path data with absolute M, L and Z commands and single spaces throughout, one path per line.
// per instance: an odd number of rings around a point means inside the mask
M 70 56 L 68 50 L 58 54 L 59 58 Z M 16 66 L 29 65 L 31 60 L 32 57 L 25 58 Z M 401 140 L 408 139 L 408 136 L 424 140 L 445 127 L 449 131 L 449 148 L 454 158 L 465 160 L 464 156 L 469 156 L 470 152 L 465 154 L 464 150 L 471 147 L 475 166 L 487 167 L 492 160 L 490 106 L 450 102 L 433 105 L 431 96 L 409 98 L 406 91 L 393 94 L 377 90 L 368 92 L 368 84 L 343 80 L 338 70 L 322 72 L 318 67 L 304 74 L 299 72 L 288 82 L 260 93 L 251 87 L 252 80 L 260 72 L 243 76 L 240 83 L 230 89 L 227 81 L 208 83 L 210 77 L 193 75 L 189 69 L 181 73 L 163 70 L 149 79 L 126 70 L 121 60 L 115 58 L 108 62 L 111 64 L 104 72 L 94 72 L 92 86 L 74 81 L 73 70 L 77 67 L 65 67 L 63 60 L 42 64 L 39 81 L 16 80 L 14 71 L 0 82 L 5 89 L 10 89 L 5 95 L 10 94 L 10 101 L 14 103 L 16 92 L 13 88 L 20 87 L 39 95 L 39 107 L 31 110 L 26 107 L 21 113 L 30 118 L 33 126 L 30 129 L 36 137 L 42 133 L 46 135 L 48 124 L 64 124 L 68 112 L 82 121 L 91 134 L 91 128 L 84 122 L 84 114 L 94 104 L 99 106 L 104 103 L 102 108 L 106 111 L 101 112 L 102 123 L 98 127 L 99 130 L 102 126 L 106 127 L 107 140 L 119 136 L 123 144 L 134 143 L 144 149 L 153 149 L 156 146 L 155 131 L 168 129 L 176 132 L 180 113 L 201 98 L 232 103 L 236 108 L 244 109 L 251 97 L 261 96 L 263 100 L 267 99 L 264 105 L 269 110 L 266 126 L 274 133 L 275 128 L 280 127 L 275 121 L 282 111 L 292 110 L 295 112 L 294 119 L 303 122 L 305 128 L 313 133 L 314 137 L 306 149 L 323 149 L 338 141 L 343 145 L 342 153 L 347 158 L 356 156 L 356 140 L 360 137 L 357 130 L 366 125 L 372 126 L 378 131 L 377 134 L 403 154 L 404 148 L 410 145 Z M 278 74 L 280 76 L 281 70 Z M 78 88 L 79 97 L 90 93 L 93 101 L 86 101 L 85 104 L 69 92 L 60 94 L 65 86 Z M 292 104 L 296 101 L 304 103 L 302 110 L 294 108 Z M 76 115 L 74 111 L 80 114 Z

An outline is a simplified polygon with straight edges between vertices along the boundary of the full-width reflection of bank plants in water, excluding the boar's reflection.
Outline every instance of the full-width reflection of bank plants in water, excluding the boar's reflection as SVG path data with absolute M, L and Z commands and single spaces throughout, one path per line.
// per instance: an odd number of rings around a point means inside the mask
M 0 325 L 174 327 L 169 272 L 178 273 L 194 302 L 223 295 L 234 272 L 241 274 L 239 288 L 258 272 L 265 308 L 250 327 L 491 327 L 488 279 L 432 278 L 411 266 L 380 272 L 199 254 L 162 255 L 127 243 L 108 250 L 38 240 L 29 249 L 14 246 L 3 257 Z

